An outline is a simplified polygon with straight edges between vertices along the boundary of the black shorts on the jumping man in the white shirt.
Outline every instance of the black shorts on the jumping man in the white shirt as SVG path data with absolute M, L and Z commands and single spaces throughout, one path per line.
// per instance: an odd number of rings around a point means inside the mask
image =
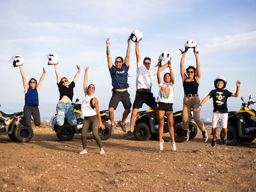
M 150 108 L 157 108 L 156 100 L 151 92 L 136 92 L 135 100 L 132 109 L 140 109 L 143 104 L 147 104 Z

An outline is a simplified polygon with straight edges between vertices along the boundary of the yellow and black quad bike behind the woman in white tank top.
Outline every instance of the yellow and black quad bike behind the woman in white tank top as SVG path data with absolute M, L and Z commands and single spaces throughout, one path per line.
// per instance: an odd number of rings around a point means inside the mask
M 70 141 L 74 137 L 74 134 L 81 133 L 83 127 L 83 116 L 81 116 L 81 103 L 76 99 L 76 102 L 72 103 L 72 107 L 77 119 L 77 125 L 70 125 L 65 117 L 64 124 L 62 126 L 54 125 L 53 129 L 57 134 L 60 141 Z M 108 140 L 111 136 L 110 124 L 108 123 L 109 115 L 108 110 L 100 111 L 102 124 L 105 125 L 105 129 L 99 129 L 99 137 L 101 140 Z M 92 127 L 89 127 L 88 132 L 92 132 Z

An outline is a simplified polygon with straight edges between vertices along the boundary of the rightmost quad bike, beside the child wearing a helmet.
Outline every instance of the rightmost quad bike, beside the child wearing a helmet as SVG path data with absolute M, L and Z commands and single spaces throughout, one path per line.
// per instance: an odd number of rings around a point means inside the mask
M 228 135 L 227 145 L 236 145 L 239 142 L 250 143 L 256 138 L 256 109 L 250 109 L 249 106 L 255 104 L 252 101 L 253 95 L 250 95 L 249 101 L 244 102 L 241 97 L 242 107 L 239 111 L 228 112 Z M 221 131 L 220 137 L 223 132 Z

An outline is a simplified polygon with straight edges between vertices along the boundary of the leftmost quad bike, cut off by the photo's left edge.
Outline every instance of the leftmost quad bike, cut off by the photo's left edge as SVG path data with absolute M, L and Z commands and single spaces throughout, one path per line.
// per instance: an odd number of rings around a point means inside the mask
M 23 111 L 6 114 L 0 111 L 0 134 L 8 134 L 13 141 L 28 142 L 33 138 L 33 129 L 17 123 L 23 118 Z

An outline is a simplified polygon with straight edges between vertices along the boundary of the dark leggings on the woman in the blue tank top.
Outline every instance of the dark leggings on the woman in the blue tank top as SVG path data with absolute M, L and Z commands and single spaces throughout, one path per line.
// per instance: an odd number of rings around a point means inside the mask
M 22 124 L 25 127 L 30 127 L 31 125 L 31 115 L 33 116 L 33 120 L 36 126 L 40 126 L 40 112 L 38 106 L 24 106 L 24 118 L 22 120 Z

